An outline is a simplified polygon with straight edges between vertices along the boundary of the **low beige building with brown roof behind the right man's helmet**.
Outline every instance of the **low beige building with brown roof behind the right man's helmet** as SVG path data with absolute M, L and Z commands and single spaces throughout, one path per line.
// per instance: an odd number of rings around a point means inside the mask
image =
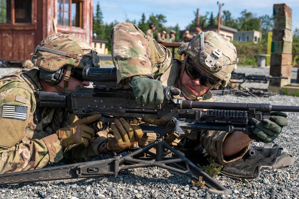
M 217 32 L 218 31 L 218 25 L 214 25 L 214 26 L 207 26 L 207 27 L 201 27 L 202 31 L 206 32 L 206 31 L 214 31 Z M 184 33 L 185 30 L 180 31 L 182 33 Z M 189 30 L 190 35 L 193 36 L 194 34 L 196 34 L 195 32 L 195 28 L 190 29 Z M 228 41 L 233 41 L 234 40 L 234 33 L 237 32 L 237 29 L 228 27 L 228 26 L 224 26 L 224 25 L 220 25 L 220 31 L 219 33 L 223 36 L 225 36 Z

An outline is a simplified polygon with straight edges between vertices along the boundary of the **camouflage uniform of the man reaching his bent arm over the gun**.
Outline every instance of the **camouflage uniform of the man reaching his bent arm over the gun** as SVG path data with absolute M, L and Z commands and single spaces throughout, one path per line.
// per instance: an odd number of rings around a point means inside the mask
M 112 59 L 117 68 L 117 79 L 121 85 L 128 85 L 129 78 L 139 75 L 160 80 L 165 86 L 175 86 L 176 80 L 180 75 L 181 61 L 173 59 L 170 51 L 164 46 L 157 44 L 155 40 L 148 38 L 137 26 L 130 23 L 120 23 L 112 28 L 110 37 L 112 39 Z M 184 98 L 183 95 L 176 96 Z M 214 101 L 214 97 L 209 92 L 198 99 L 198 101 Z M 142 121 L 149 124 L 163 126 L 167 120 L 159 121 L 143 118 Z M 249 145 L 235 157 L 223 158 L 222 144 L 229 133 L 220 131 L 202 130 L 198 133 L 186 133 L 184 137 L 175 134 L 168 135 L 172 145 L 184 146 L 187 141 L 193 141 L 190 149 L 196 150 L 204 147 L 208 154 L 217 162 L 226 164 L 239 160 L 245 154 Z M 150 134 L 145 134 L 141 141 L 155 140 Z M 166 138 L 167 141 L 167 138 Z M 171 142 L 170 141 L 170 142 Z

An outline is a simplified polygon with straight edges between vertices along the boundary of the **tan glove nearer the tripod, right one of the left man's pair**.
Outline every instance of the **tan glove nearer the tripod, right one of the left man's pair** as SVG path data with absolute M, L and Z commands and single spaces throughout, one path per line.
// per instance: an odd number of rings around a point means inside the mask
M 137 143 L 143 135 L 141 128 L 136 124 L 129 124 L 123 118 L 115 119 L 111 124 L 114 138 L 109 141 L 109 149 L 120 152 Z

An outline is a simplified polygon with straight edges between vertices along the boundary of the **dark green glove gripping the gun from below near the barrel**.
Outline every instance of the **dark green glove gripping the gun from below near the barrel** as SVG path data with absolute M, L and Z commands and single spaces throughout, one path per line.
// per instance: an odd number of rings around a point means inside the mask
M 269 120 L 263 119 L 262 121 L 257 121 L 252 118 L 252 132 L 248 133 L 249 138 L 264 143 L 274 141 L 281 133 L 282 128 L 288 124 L 286 117 L 287 115 L 283 112 L 272 111 Z

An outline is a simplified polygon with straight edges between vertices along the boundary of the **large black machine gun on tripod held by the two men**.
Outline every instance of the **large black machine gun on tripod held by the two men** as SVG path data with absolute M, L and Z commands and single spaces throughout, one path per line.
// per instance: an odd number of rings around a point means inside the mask
M 299 112 L 299 107 L 274 106 L 271 104 L 243 104 L 198 102 L 176 99 L 168 88 L 164 89 L 164 102 L 160 105 L 139 105 L 135 101 L 132 90 L 116 84 L 115 69 L 85 67 L 83 78 L 93 81 L 93 88 L 77 86 L 77 90 L 69 95 L 36 92 L 36 103 L 39 107 L 62 107 L 78 116 L 87 117 L 101 113 L 101 122 L 114 122 L 115 118 L 168 118 L 166 127 L 140 125 L 144 132 L 154 132 L 157 140 L 133 152 L 119 154 L 101 154 L 96 160 L 22 172 L 0 175 L 0 184 L 23 183 L 34 181 L 61 180 L 70 178 L 99 177 L 117 175 L 119 171 L 138 167 L 158 166 L 178 172 L 199 181 L 203 177 L 208 192 L 214 194 L 230 194 L 213 178 L 198 166 L 181 155 L 164 141 L 164 135 L 175 131 L 184 134 L 185 129 L 250 131 L 251 118 L 262 120 L 270 117 L 270 111 Z M 207 109 L 207 110 L 205 110 Z M 96 127 L 95 124 L 92 126 Z M 156 148 L 156 153 L 149 150 Z M 172 157 L 164 155 L 164 149 L 173 153 Z M 140 158 L 146 153 L 152 158 Z

